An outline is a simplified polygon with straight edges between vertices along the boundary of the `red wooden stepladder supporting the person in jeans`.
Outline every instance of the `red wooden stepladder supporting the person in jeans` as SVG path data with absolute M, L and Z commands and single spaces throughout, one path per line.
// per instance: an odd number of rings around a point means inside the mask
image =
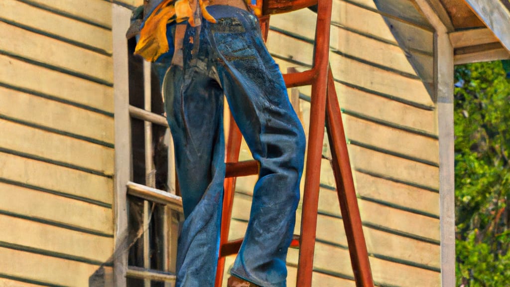
M 329 31 L 331 19 L 331 0 L 290 0 L 282 3 L 277 0 L 265 0 L 260 17 L 261 29 L 267 39 L 269 15 L 298 10 L 313 5 L 317 7 L 317 25 L 314 46 L 314 64 L 309 70 L 284 75 L 288 88 L 312 85 L 310 129 L 305 170 L 305 183 L 301 217 L 301 236 L 293 240 L 291 246 L 299 247 L 297 287 L 312 285 L 315 234 L 317 228 L 317 209 L 319 202 L 319 182 L 322 158 L 324 125 L 328 131 L 331 147 L 332 165 L 337 185 L 338 200 L 342 212 L 345 233 L 349 246 L 352 270 L 356 286 L 372 287 L 372 273 L 368 260 L 365 237 L 363 235 L 360 210 L 354 190 L 351 166 L 347 153 L 347 143 L 337 100 L 333 74 L 329 67 Z M 236 177 L 258 174 L 257 161 L 238 162 L 242 135 L 231 116 L 226 143 L 226 179 L 224 184 L 223 213 L 221 221 L 220 254 L 216 273 L 216 287 L 221 287 L 225 256 L 237 254 L 242 239 L 228 241 Z

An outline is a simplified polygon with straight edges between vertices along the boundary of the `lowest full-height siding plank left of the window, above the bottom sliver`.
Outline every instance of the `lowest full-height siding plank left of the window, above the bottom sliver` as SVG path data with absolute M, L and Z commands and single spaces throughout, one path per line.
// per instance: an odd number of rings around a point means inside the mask
M 65 286 L 89 287 L 89 278 L 99 269 L 78 261 L 0 247 L 0 270 L 10 276 Z

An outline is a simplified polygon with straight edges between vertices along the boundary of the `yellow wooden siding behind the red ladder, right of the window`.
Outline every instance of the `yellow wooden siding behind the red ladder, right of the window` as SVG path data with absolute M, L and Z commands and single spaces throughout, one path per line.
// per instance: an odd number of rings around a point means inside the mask
M 371 268 L 376 285 L 439 286 L 433 29 L 412 1 L 384 1 L 384 11 L 378 2 L 334 0 L 330 43 Z M 310 67 L 315 14 L 303 9 L 273 15 L 270 25 L 268 49 L 283 73 Z M 299 88 L 299 97 L 298 113 L 308 132 L 310 87 Z M 330 156 L 326 141 L 324 155 Z M 241 158 L 249 159 L 245 146 Z M 237 180 L 231 239 L 244 234 L 256 179 Z M 289 286 L 295 285 L 297 254 L 289 251 Z M 227 266 L 233 257 L 228 259 Z M 355 285 L 327 159 L 321 166 L 313 284 Z

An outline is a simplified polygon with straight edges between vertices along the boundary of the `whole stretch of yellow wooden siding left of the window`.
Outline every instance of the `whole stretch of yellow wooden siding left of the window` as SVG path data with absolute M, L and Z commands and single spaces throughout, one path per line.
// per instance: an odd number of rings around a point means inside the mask
M 111 3 L 0 3 L 0 285 L 89 286 L 113 254 Z

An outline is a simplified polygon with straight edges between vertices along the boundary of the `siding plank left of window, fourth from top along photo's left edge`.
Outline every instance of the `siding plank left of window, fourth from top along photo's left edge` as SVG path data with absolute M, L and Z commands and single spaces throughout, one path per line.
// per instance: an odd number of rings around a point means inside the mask
M 1 60 L 0 60 L 1 61 Z M 0 114 L 64 133 L 113 144 L 112 117 L 0 86 Z

